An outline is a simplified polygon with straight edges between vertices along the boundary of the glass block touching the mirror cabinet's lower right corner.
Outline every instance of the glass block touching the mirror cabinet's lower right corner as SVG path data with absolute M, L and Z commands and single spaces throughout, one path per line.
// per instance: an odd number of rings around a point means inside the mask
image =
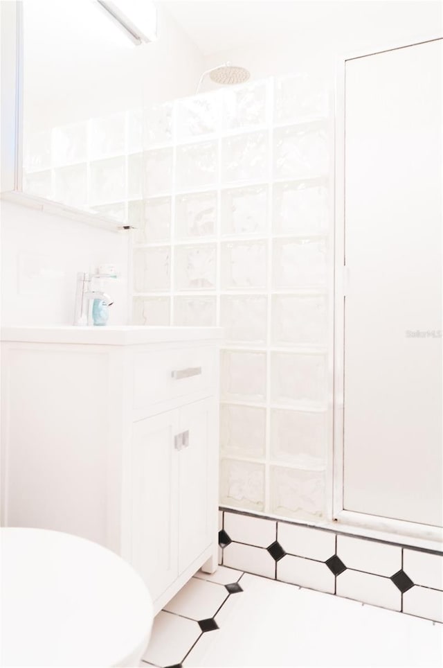
M 130 225 L 138 227 L 134 234 L 134 243 L 152 243 L 170 239 L 170 197 L 129 202 L 128 211 Z

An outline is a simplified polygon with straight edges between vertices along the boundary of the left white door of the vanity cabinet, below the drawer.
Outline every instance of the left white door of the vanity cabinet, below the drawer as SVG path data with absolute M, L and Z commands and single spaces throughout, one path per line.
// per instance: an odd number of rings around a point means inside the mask
M 132 430 L 132 565 L 152 599 L 178 577 L 178 412 L 136 422 Z

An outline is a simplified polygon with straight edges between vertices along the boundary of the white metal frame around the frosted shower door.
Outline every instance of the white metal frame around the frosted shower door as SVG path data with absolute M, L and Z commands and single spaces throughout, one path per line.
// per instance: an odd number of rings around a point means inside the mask
M 364 58 L 386 51 L 404 49 L 408 46 L 433 42 L 442 35 L 417 35 L 401 44 L 383 44 L 376 49 L 341 55 L 336 60 L 335 95 L 335 160 L 334 160 L 334 426 L 333 426 L 333 491 L 332 518 L 334 523 L 350 527 L 383 531 L 393 540 L 417 547 L 434 547 L 434 541 L 442 541 L 443 529 L 431 525 L 417 524 L 405 520 L 345 510 L 344 508 L 344 358 L 345 358 L 345 308 L 347 270 L 345 266 L 345 74 L 348 60 Z M 345 528 L 346 527 L 346 528 Z

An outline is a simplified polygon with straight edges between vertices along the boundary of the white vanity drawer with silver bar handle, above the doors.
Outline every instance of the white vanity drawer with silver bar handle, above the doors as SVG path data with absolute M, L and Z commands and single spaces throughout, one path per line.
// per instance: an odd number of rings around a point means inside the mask
M 150 350 L 134 355 L 135 410 L 188 394 L 212 394 L 215 348 Z

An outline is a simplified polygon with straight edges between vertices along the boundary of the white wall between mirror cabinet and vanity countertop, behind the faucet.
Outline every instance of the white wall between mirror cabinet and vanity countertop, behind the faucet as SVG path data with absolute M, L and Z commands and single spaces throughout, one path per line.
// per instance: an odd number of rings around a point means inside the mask
M 1 202 L 1 324 L 72 324 L 77 272 L 113 263 L 110 324 L 127 322 L 128 237 Z

